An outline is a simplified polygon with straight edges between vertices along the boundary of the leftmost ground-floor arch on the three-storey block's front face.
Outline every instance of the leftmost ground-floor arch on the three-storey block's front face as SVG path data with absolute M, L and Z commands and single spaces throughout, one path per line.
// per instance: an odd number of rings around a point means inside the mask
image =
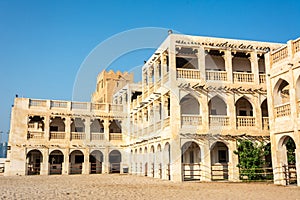
M 186 142 L 181 148 L 183 180 L 200 180 L 201 154 L 200 147 L 195 142 Z

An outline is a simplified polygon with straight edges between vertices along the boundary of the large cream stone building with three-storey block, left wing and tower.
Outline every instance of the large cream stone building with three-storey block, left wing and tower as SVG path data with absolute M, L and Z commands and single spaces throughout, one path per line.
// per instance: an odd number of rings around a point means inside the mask
M 141 83 L 104 71 L 92 103 L 17 98 L 6 174 L 238 181 L 237 139 L 269 141 L 265 55 L 282 46 L 170 34 Z

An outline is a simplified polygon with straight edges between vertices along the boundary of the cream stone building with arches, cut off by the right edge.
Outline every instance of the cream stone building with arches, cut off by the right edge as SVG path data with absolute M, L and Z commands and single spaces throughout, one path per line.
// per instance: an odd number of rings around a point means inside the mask
M 300 38 L 267 55 L 274 182 L 300 182 Z

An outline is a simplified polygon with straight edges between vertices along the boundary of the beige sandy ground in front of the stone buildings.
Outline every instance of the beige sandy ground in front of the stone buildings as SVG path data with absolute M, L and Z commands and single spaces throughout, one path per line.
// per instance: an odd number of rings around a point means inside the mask
M 132 175 L 0 176 L 1 199 L 300 199 L 300 187 L 173 183 Z

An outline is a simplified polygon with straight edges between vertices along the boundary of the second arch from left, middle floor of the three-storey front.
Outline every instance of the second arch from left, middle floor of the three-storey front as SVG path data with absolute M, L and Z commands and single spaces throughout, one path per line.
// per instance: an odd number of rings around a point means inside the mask
M 219 96 L 214 96 L 208 102 L 209 125 L 210 126 L 228 126 L 227 104 Z

